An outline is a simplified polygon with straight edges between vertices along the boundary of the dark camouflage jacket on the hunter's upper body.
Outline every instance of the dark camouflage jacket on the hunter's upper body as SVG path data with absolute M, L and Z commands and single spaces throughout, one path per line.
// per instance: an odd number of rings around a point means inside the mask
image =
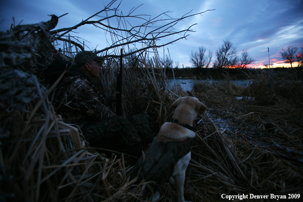
M 55 101 L 59 103 L 61 113 L 69 122 L 99 121 L 116 116 L 84 75 L 74 75 L 62 80 L 56 87 Z

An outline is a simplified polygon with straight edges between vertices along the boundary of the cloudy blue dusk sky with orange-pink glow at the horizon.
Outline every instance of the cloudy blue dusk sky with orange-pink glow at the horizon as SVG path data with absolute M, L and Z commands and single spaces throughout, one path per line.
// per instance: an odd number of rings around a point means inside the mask
M 84 3 L 85 2 L 85 3 Z M 61 18 L 56 29 L 72 27 L 82 19 L 86 19 L 104 8 L 110 1 L 83 1 L 83 0 L 4 0 L 0 3 L 0 30 L 9 30 L 12 17 L 15 24 L 30 24 L 50 19 L 48 15 L 57 16 L 68 13 Z M 117 5 L 120 2 L 117 2 Z M 143 5 L 142 5 L 143 4 Z M 141 6 L 140 6 L 141 5 Z M 273 63 L 274 67 L 287 66 L 281 57 L 282 48 L 289 45 L 303 48 L 303 1 L 299 0 L 123 0 L 119 11 L 127 14 L 132 8 L 140 6 L 134 14 L 144 14 L 156 17 L 159 14 L 168 13 L 171 18 L 180 18 L 184 14 L 205 12 L 187 18 L 174 26 L 175 31 L 184 30 L 195 24 L 190 36 L 159 48 L 160 55 L 167 54 L 169 50 L 173 61 L 179 62 L 179 67 L 191 67 L 189 61 L 191 51 L 197 51 L 200 46 L 207 52 L 215 52 L 228 40 L 237 48 L 240 56 L 242 50 L 256 61 L 250 67 L 264 67 Z M 213 10 L 215 9 L 215 10 Z M 149 17 L 147 16 L 147 17 Z M 167 16 L 165 16 L 167 17 Z M 136 25 L 137 19 L 130 19 L 132 25 Z M 97 50 L 108 45 L 109 35 L 103 30 L 88 24 L 71 33 L 85 39 L 89 48 Z M 181 35 L 179 35 L 180 37 Z M 157 42 L 164 44 L 169 40 L 178 38 L 167 37 Z M 106 40 L 107 39 L 107 40 Z M 268 58 L 269 48 L 269 58 Z M 88 48 L 86 48 L 87 50 Z M 163 53 L 164 51 L 164 53 Z

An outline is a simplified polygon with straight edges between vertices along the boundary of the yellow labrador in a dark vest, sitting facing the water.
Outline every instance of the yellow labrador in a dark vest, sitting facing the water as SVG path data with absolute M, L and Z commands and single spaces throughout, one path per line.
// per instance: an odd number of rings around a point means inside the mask
M 173 177 L 178 202 L 184 202 L 185 171 L 191 158 L 189 139 L 195 137 L 193 121 L 207 109 L 195 97 L 181 97 L 172 104 L 171 122 L 165 122 L 157 137 L 131 169 L 138 181 L 168 182 Z M 137 182 L 138 182 L 137 181 Z M 155 200 L 153 200 L 155 201 Z

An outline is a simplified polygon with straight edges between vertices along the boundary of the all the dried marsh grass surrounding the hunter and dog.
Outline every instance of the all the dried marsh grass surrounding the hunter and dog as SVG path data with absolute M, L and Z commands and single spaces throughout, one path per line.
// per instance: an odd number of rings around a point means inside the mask
M 157 129 L 171 116 L 173 101 L 188 95 L 185 92 L 177 95 L 165 86 L 160 88 L 165 84 L 159 82 L 163 74 L 157 74 L 155 69 L 154 72 L 147 68 L 127 69 L 125 75 L 124 114 L 146 112 Z M 132 82 L 128 81 L 130 75 Z M 100 86 L 109 80 L 102 82 Z M 131 86 L 137 90 L 133 91 Z M 247 88 L 253 92 L 251 85 Z M 277 115 L 269 119 L 280 103 L 259 106 L 259 99 L 235 98 L 247 88 L 228 82 L 195 84 L 192 93 L 205 100 L 210 112 L 213 109 L 228 112 L 222 117 L 231 119 L 229 124 L 237 130 L 218 127 L 212 113 L 197 119 L 198 132 L 191 141 L 192 160 L 186 173 L 188 200 L 221 201 L 223 193 L 302 191 L 302 129 L 287 124 L 286 119 L 281 120 L 283 110 L 277 110 Z M 136 95 L 131 97 L 133 93 Z M 140 105 L 136 104 L 138 100 Z M 273 125 L 273 131 L 266 123 Z M 131 166 L 129 157 L 106 157 L 97 148 L 89 147 L 77 125 L 62 122 L 45 96 L 30 103 L 27 110 L 3 112 L 1 124 L 10 129 L 9 136 L 2 140 L 5 144 L 0 160 L 7 185 L 2 192 L 14 194 L 12 198 L 18 201 L 24 198 L 28 201 L 145 201 L 146 190 L 152 189 L 150 182 L 140 185 L 130 182 L 125 174 Z M 251 131 L 255 132 L 253 139 Z M 161 201 L 175 200 L 173 186 L 169 183 L 158 186 Z

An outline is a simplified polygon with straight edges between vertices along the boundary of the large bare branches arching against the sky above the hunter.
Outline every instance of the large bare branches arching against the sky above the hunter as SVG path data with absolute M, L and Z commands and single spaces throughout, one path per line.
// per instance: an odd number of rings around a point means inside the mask
M 171 18 L 168 16 L 169 12 L 164 12 L 152 18 L 148 15 L 134 14 L 134 12 L 142 5 L 134 7 L 130 10 L 128 14 L 124 15 L 121 11 L 119 11 L 120 4 L 121 1 L 118 2 L 117 0 L 112 0 L 108 5 L 105 6 L 103 10 L 95 13 L 94 15 L 88 17 L 85 20 L 82 20 L 79 24 L 76 24 L 75 26 L 70 28 L 63 28 L 50 32 L 54 35 L 53 41 L 63 40 L 64 37 L 68 37 L 67 34 L 73 32 L 75 29 L 84 26 L 85 24 L 92 24 L 93 26 L 105 31 L 105 38 L 107 36 L 110 36 L 110 39 L 106 38 L 108 47 L 104 47 L 100 50 L 95 50 L 95 53 L 102 53 L 106 57 L 118 58 L 119 48 L 121 46 L 125 47 L 125 45 L 137 44 L 136 47 L 141 47 L 139 49 L 135 49 L 133 52 L 129 52 L 123 55 L 128 56 L 138 52 L 142 52 L 142 50 L 162 47 L 180 39 L 185 39 L 187 36 L 189 36 L 190 32 L 193 32 L 191 30 L 191 27 L 195 24 L 192 24 L 185 30 L 178 31 L 174 29 L 174 26 L 178 22 L 186 18 L 204 13 L 201 12 L 196 14 L 190 14 L 189 12 L 181 16 L 180 18 Z M 138 24 L 131 24 L 132 19 L 134 19 L 133 21 Z M 172 35 L 178 36 L 175 39 L 172 39 L 171 41 L 162 43 L 160 45 L 157 44 L 161 39 Z M 75 46 L 77 46 L 81 50 L 84 50 L 85 45 L 82 44 L 82 39 L 80 37 L 70 36 L 70 38 L 75 40 L 73 42 Z M 70 41 L 70 38 L 68 37 L 65 40 Z

